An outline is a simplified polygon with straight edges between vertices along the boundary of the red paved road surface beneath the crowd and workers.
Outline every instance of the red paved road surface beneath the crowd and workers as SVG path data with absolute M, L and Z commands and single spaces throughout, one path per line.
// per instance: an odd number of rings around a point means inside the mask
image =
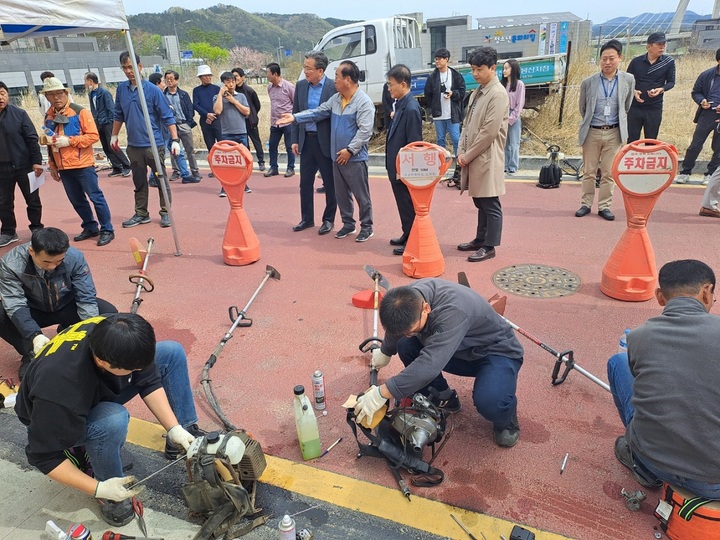
M 104 248 L 91 241 L 78 247 L 90 261 L 100 295 L 129 310 L 134 287 L 128 275 L 135 265 L 128 239 L 155 238 L 149 275 L 156 290 L 143 295 L 140 314 L 154 324 L 159 338 L 185 345 L 201 425 L 218 425 L 200 390 L 202 367 L 231 325 L 228 307 L 247 303 L 270 264 L 282 279 L 267 283 L 248 312 L 253 326 L 235 332 L 212 370 L 226 414 L 253 432 L 268 453 L 300 460 L 292 389 L 296 384 L 309 387 L 312 372 L 321 369 L 329 402 L 329 415 L 320 419 L 323 444 L 340 436 L 345 440 L 316 466 L 394 486 L 382 462 L 356 461 L 357 449 L 339 407 L 348 394 L 367 386 L 369 359 L 358 351 L 358 344 L 372 333 L 372 312 L 351 304 L 354 293 L 372 287 L 363 265 L 375 266 L 392 285 L 411 281 L 388 245 L 388 239 L 399 233 L 399 220 L 387 180 L 371 179 L 375 236 L 358 244 L 352 237 L 320 237 L 315 230 L 292 232 L 291 226 L 299 221 L 298 177 L 266 179 L 254 174 L 253 193 L 245 197 L 245 207 L 260 239 L 262 258 L 250 266 L 230 267 L 223 264 L 220 251 L 228 203 L 217 197 L 215 180 L 172 184 L 183 251 L 176 257 L 170 230 L 158 226 L 157 197 L 152 197 L 151 225 L 122 229 L 120 222 L 131 215 L 132 184 L 105 175 L 102 186 L 117 238 Z M 555 300 L 510 296 L 506 316 L 558 350 L 573 349 L 581 366 L 605 380 L 605 360 L 616 351 L 623 329 L 660 311 L 654 301 L 623 303 L 599 290 L 602 266 L 625 227 L 619 191 L 616 195 L 613 210 L 618 219 L 610 223 L 596 214 L 573 216 L 579 200 L 577 182 L 547 191 L 532 183 L 509 183 L 502 198 L 505 222 L 498 256 L 471 264 L 455 245 L 473 238 L 472 202 L 455 189 L 439 186 L 431 216 L 446 257 L 442 277 L 455 280 L 458 271 L 465 271 L 472 286 L 490 296 L 497 290 L 492 274 L 513 264 L 540 263 L 577 273 L 583 281 L 577 294 Z M 697 216 L 701 195 L 701 189 L 671 187 L 662 196 L 649 225 L 658 266 L 672 259 L 700 258 L 720 268 L 720 220 Z M 71 236 L 79 232 L 79 220 L 61 186 L 52 182 L 44 187 L 43 201 L 46 225 L 61 227 Z M 316 195 L 316 204 L 321 201 L 322 195 Z M 20 202 L 17 207 L 21 208 Z M 316 215 L 320 212 L 316 208 Z M 24 228 L 21 240 L 26 241 L 26 221 L 22 211 L 17 214 Z M 526 348 L 518 388 L 520 443 L 511 450 L 496 447 L 491 426 L 472 408 L 472 381 L 450 376 L 464 407 L 436 461 L 446 479 L 439 487 L 413 491 L 577 538 L 649 537 L 655 525 L 654 501 L 644 503 L 641 512 L 630 513 L 619 494 L 621 487 L 640 486 L 613 455 L 613 441 L 622 426 L 610 395 L 577 372 L 563 385 L 551 386 L 553 357 L 520 339 Z M 394 373 L 398 364 L 395 359 L 381 372 L 381 379 Z M 15 353 L 3 346 L 0 372 L 14 371 L 16 366 Z M 141 405 L 134 403 L 131 409 L 149 419 Z M 565 452 L 570 459 L 560 476 Z M 654 498 L 650 495 L 650 500 Z

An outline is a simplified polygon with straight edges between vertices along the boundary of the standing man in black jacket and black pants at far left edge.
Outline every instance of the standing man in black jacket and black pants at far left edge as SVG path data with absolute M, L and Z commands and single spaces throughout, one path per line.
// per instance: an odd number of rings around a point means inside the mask
M 15 234 L 15 185 L 27 204 L 30 230 L 42 229 L 40 190 L 30 191 L 28 173 L 43 173 L 37 131 L 28 114 L 10 104 L 7 85 L 0 81 L 0 247 L 18 241 Z

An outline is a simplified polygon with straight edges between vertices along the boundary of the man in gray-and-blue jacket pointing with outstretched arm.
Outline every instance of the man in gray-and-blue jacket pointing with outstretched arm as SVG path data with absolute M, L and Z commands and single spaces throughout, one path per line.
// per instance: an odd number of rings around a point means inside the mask
M 367 145 L 375 124 L 375 105 L 370 97 L 360 90 L 360 70 L 350 60 L 340 63 L 335 70 L 335 88 L 338 93 L 316 109 L 297 114 L 286 113 L 278 125 L 292 122 L 320 122 L 330 118 L 330 156 L 333 158 L 333 177 L 343 227 L 335 238 L 354 234 L 353 196 L 360 208 L 360 232 L 356 242 L 366 242 L 373 235 L 372 202 L 368 185 Z

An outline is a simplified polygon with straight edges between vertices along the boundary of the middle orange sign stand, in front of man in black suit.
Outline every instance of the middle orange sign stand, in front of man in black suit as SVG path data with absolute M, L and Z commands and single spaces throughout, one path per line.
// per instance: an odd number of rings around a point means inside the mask
M 414 278 L 437 277 L 445 271 L 445 259 L 430 220 L 430 203 L 435 186 L 452 162 L 444 148 L 414 142 L 398 152 L 395 167 L 407 186 L 415 207 L 415 221 L 405 243 L 403 273 Z

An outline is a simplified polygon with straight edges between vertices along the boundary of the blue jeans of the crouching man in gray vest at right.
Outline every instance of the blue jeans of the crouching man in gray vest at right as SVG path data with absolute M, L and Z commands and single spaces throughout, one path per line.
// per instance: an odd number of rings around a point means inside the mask
M 608 361 L 607 368 L 610 391 L 612 392 L 615 407 L 620 414 L 620 420 L 622 420 L 622 423 L 627 427 L 635 415 L 635 406 L 632 404 L 634 377 L 630 372 L 627 353 L 617 353 L 613 355 Z M 632 455 L 637 465 L 640 465 L 663 482 L 687 489 L 698 497 L 720 500 L 720 484 L 709 484 L 708 482 L 700 482 L 691 478 L 678 476 L 642 461 L 635 452 L 633 452 Z

